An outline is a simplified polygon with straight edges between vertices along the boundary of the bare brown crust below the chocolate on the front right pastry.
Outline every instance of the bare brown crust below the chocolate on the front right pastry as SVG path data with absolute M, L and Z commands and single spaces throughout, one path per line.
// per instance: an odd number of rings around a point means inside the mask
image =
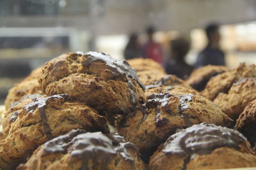
M 233 148 L 217 148 L 209 155 L 195 155 L 194 159 L 185 163 L 186 156 L 168 155 L 157 151 L 150 159 L 150 169 L 226 169 L 236 167 L 255 167 L 256 157 Z

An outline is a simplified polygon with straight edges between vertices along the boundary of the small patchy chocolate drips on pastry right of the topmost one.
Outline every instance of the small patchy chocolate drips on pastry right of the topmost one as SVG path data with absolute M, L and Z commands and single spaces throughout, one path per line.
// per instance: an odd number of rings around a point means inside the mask
M 159 107 L 166 108 L 169 97 L 171 97 L 172 94 L 169 93 L 160 93 L 160 94 L 152 94 L 148 96 L 148 100 L 146 103 L 142 104 L 138 109 L 143 111 L 143 118 L 141 120 L 141 123 L 144 122 L 149 114 L 150 108 L 156 108 L 156 117 L 155 117 L 155 122 L 156 125 L 162 125 L 165 124 L 166 119 L 161 118 L 161 115 L 163 114 Z

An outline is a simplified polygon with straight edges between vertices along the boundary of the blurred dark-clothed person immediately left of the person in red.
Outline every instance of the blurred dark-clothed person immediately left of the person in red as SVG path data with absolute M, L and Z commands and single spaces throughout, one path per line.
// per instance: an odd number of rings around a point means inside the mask
M 132 32 L 124 49 L 125 60 L 141 57 L 140 44 L 138 42 L 138 34 Z

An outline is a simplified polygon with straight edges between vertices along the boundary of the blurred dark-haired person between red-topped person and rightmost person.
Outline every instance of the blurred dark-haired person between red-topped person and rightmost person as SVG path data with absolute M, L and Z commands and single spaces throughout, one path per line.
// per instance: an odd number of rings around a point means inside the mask
M 175 74 L 182 79 L 188 78 L 193 71 L 193 67 L 184 60 L 189 46 L 189 42 L 184 38 L 174 39 L 170 42 L 170 57 L 165 62 L 167 74 Z

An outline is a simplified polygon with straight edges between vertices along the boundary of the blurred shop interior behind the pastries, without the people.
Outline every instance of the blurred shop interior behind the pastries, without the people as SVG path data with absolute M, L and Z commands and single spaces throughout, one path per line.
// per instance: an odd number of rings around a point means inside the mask
M 149 25 L 163 66 L 175 50 L 172 41 L 182 38 L 184 61 L 193 67 L 209 44 L 211 23 L 218 25 L 226 66 L 256 62 L 254 0 L 1 0 L 0 104 L 14 83 L 61 53 L 96 50 L 129 59 L 131 33 L 138 47 L 131 49 L 140 50 Z

